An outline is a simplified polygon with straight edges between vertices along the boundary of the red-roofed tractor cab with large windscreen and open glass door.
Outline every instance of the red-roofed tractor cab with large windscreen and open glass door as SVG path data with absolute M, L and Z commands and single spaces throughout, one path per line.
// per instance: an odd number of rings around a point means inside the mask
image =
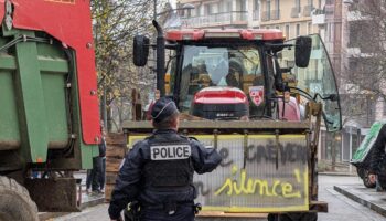
M 302 120 L 323 104 L 329 131 L 341 128 L 333 71 L 319 35 L 285 41 L 279 30 L 171 30 L 161 92 L 180 110 L 211 120 Z M 136 50 L 137 51 L 137 50 Z M 138 57 L 137 57 L 138 59 Z

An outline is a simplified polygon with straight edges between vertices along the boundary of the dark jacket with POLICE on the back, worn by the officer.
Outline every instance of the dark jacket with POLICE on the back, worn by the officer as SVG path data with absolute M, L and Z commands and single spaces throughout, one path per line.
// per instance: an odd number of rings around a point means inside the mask
M 164 152 L 162 148 L 167 144 L 178 147 Z M 187 149 L 187 145 L 190 149 Z M 159 162 L 162 160 L 159 160 L 153 165 L 158 158 L 168 157 L 165 155 L 179 159 L 164 160 L 167 164 L 163 165 L 160 165 Z M 189 158 L 185 159 L 184 155 L 189 155 Z M 221 160 L 222 158 L 215 149 L 206 149 L 195 139 L 181 136 L 172 129 L 156 131 L 151 137 L 137 143 L 126 156 L 111 194 L 108 209 L 110 218 L 117 219 L 128 202 L 136 200 L 144 206 L 192 202 L 196 197 L 192 183 L 193 172 L 211 172 L 219 165 Z M 154 170 L 157 167 L 161 169 Z M 170 172 L 164 169 L 170 170 Z M 182 173 L 185 176 L 181 178 L 179 175 Z M 157 177 L 157 179 L 152 179 L 152 177 Z M 170 187 L 168 187 L 168 179 Z

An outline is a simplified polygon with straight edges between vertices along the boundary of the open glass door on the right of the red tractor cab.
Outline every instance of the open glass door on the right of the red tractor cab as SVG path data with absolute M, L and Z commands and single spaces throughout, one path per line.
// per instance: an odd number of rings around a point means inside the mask
M 300 94 L 323 104 L 322 115 L 326 130 L 337 131 L 342 129 L 342 113 L 335 74 L 320 35 L 312 34 L 310 38 L 312 50 L 307 67 L 294 65 L 294 46 L 283 49 L 279 54 L 279 62 L 281 67 L 290 70 L 290 76 L 296 77 L 296 87 L 299 88 Z M 286 43 L 294 45 L 296 40 L 289 40 Z

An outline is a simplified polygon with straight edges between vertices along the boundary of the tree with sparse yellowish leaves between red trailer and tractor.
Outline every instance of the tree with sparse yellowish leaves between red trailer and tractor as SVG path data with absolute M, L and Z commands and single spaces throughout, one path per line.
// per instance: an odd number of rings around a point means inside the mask
M 153 1 L 92 0 L 92 13 L 101 118 L 119 129 L 130 116 L 131 90 L 147 94 L 154 85 L 154 73 L 131 62 L 133 36 L 153 32 Z

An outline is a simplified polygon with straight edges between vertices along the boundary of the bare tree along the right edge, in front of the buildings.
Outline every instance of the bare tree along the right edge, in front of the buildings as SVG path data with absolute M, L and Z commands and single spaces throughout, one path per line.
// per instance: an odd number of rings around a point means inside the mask
M 345 105 L 352 118 L 372 124 L 375 103 L 386 102 L 385 0 L 354 0 L 349 7 Z M 362 120 L 364 122 L 364 120 Z

